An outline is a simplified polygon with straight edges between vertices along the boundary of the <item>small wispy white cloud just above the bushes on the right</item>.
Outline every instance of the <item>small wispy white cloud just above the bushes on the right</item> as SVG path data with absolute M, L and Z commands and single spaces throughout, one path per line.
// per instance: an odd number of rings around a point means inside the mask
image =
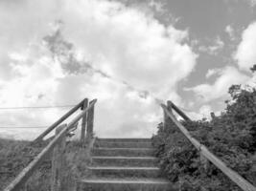
M 224 67 L 222 70 L 216 69 L 214 73 L 218 73 L 219 77 L 213 84 L 204 83 L 192 88 L 185 88 L 185 90 L 193 91 L 200 100 L 207 102 L 227 96 L 227 90 L 232 84 L 244 84 L 249 80 L 249 76 L 231 66 Z

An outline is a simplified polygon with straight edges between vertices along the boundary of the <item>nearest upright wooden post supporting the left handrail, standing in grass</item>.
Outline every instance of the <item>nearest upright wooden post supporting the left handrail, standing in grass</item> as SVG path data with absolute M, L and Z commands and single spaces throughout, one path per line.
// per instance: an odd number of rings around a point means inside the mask
M 66 124 L 59 126 L 56 129 L 56 136 L 66 126 Z M 51 178 L 51 191 L 62 190 L 63 180 L 63 166 L 64 166 L 64 151 L 66 145 L 66 137 L 64 136 L 55 146 L 52 159 L 52 178 Z

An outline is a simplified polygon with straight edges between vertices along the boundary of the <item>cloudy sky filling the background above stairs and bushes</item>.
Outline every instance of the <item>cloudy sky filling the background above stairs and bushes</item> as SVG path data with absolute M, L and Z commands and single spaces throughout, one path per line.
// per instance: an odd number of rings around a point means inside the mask
M 232 84 L 254 85 L 255 34 L 256 0 L 0 0 L 0 137 L 36 138 L 69 109 L 1 108 L 84 97 L 101 138 L 151 137 L 167 100 L 218 116 Z

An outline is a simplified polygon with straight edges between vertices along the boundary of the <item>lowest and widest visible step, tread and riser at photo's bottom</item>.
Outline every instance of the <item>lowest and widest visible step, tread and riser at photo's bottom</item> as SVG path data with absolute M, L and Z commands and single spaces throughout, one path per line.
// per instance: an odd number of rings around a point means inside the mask
M 86 179 L 77 191 L 177 191 L 177 186 L 162 179 Z

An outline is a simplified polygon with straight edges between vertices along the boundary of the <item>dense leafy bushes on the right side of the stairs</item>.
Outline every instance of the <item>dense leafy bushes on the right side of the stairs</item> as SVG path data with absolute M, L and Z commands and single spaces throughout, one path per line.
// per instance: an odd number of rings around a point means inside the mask
M 226 101 L 220 117 L 182 123 L 228 167 L 256 185 L 256 90 L 233 85 L 229 94 L 231 100 Z M 179 182 L 180 190 L 240 190 L 213 164 L 204 165 L 198 151 L 173 122 L 166 129 L 162 123 L 158 125 L 153 144 L 164 173 L 169 180 Z

